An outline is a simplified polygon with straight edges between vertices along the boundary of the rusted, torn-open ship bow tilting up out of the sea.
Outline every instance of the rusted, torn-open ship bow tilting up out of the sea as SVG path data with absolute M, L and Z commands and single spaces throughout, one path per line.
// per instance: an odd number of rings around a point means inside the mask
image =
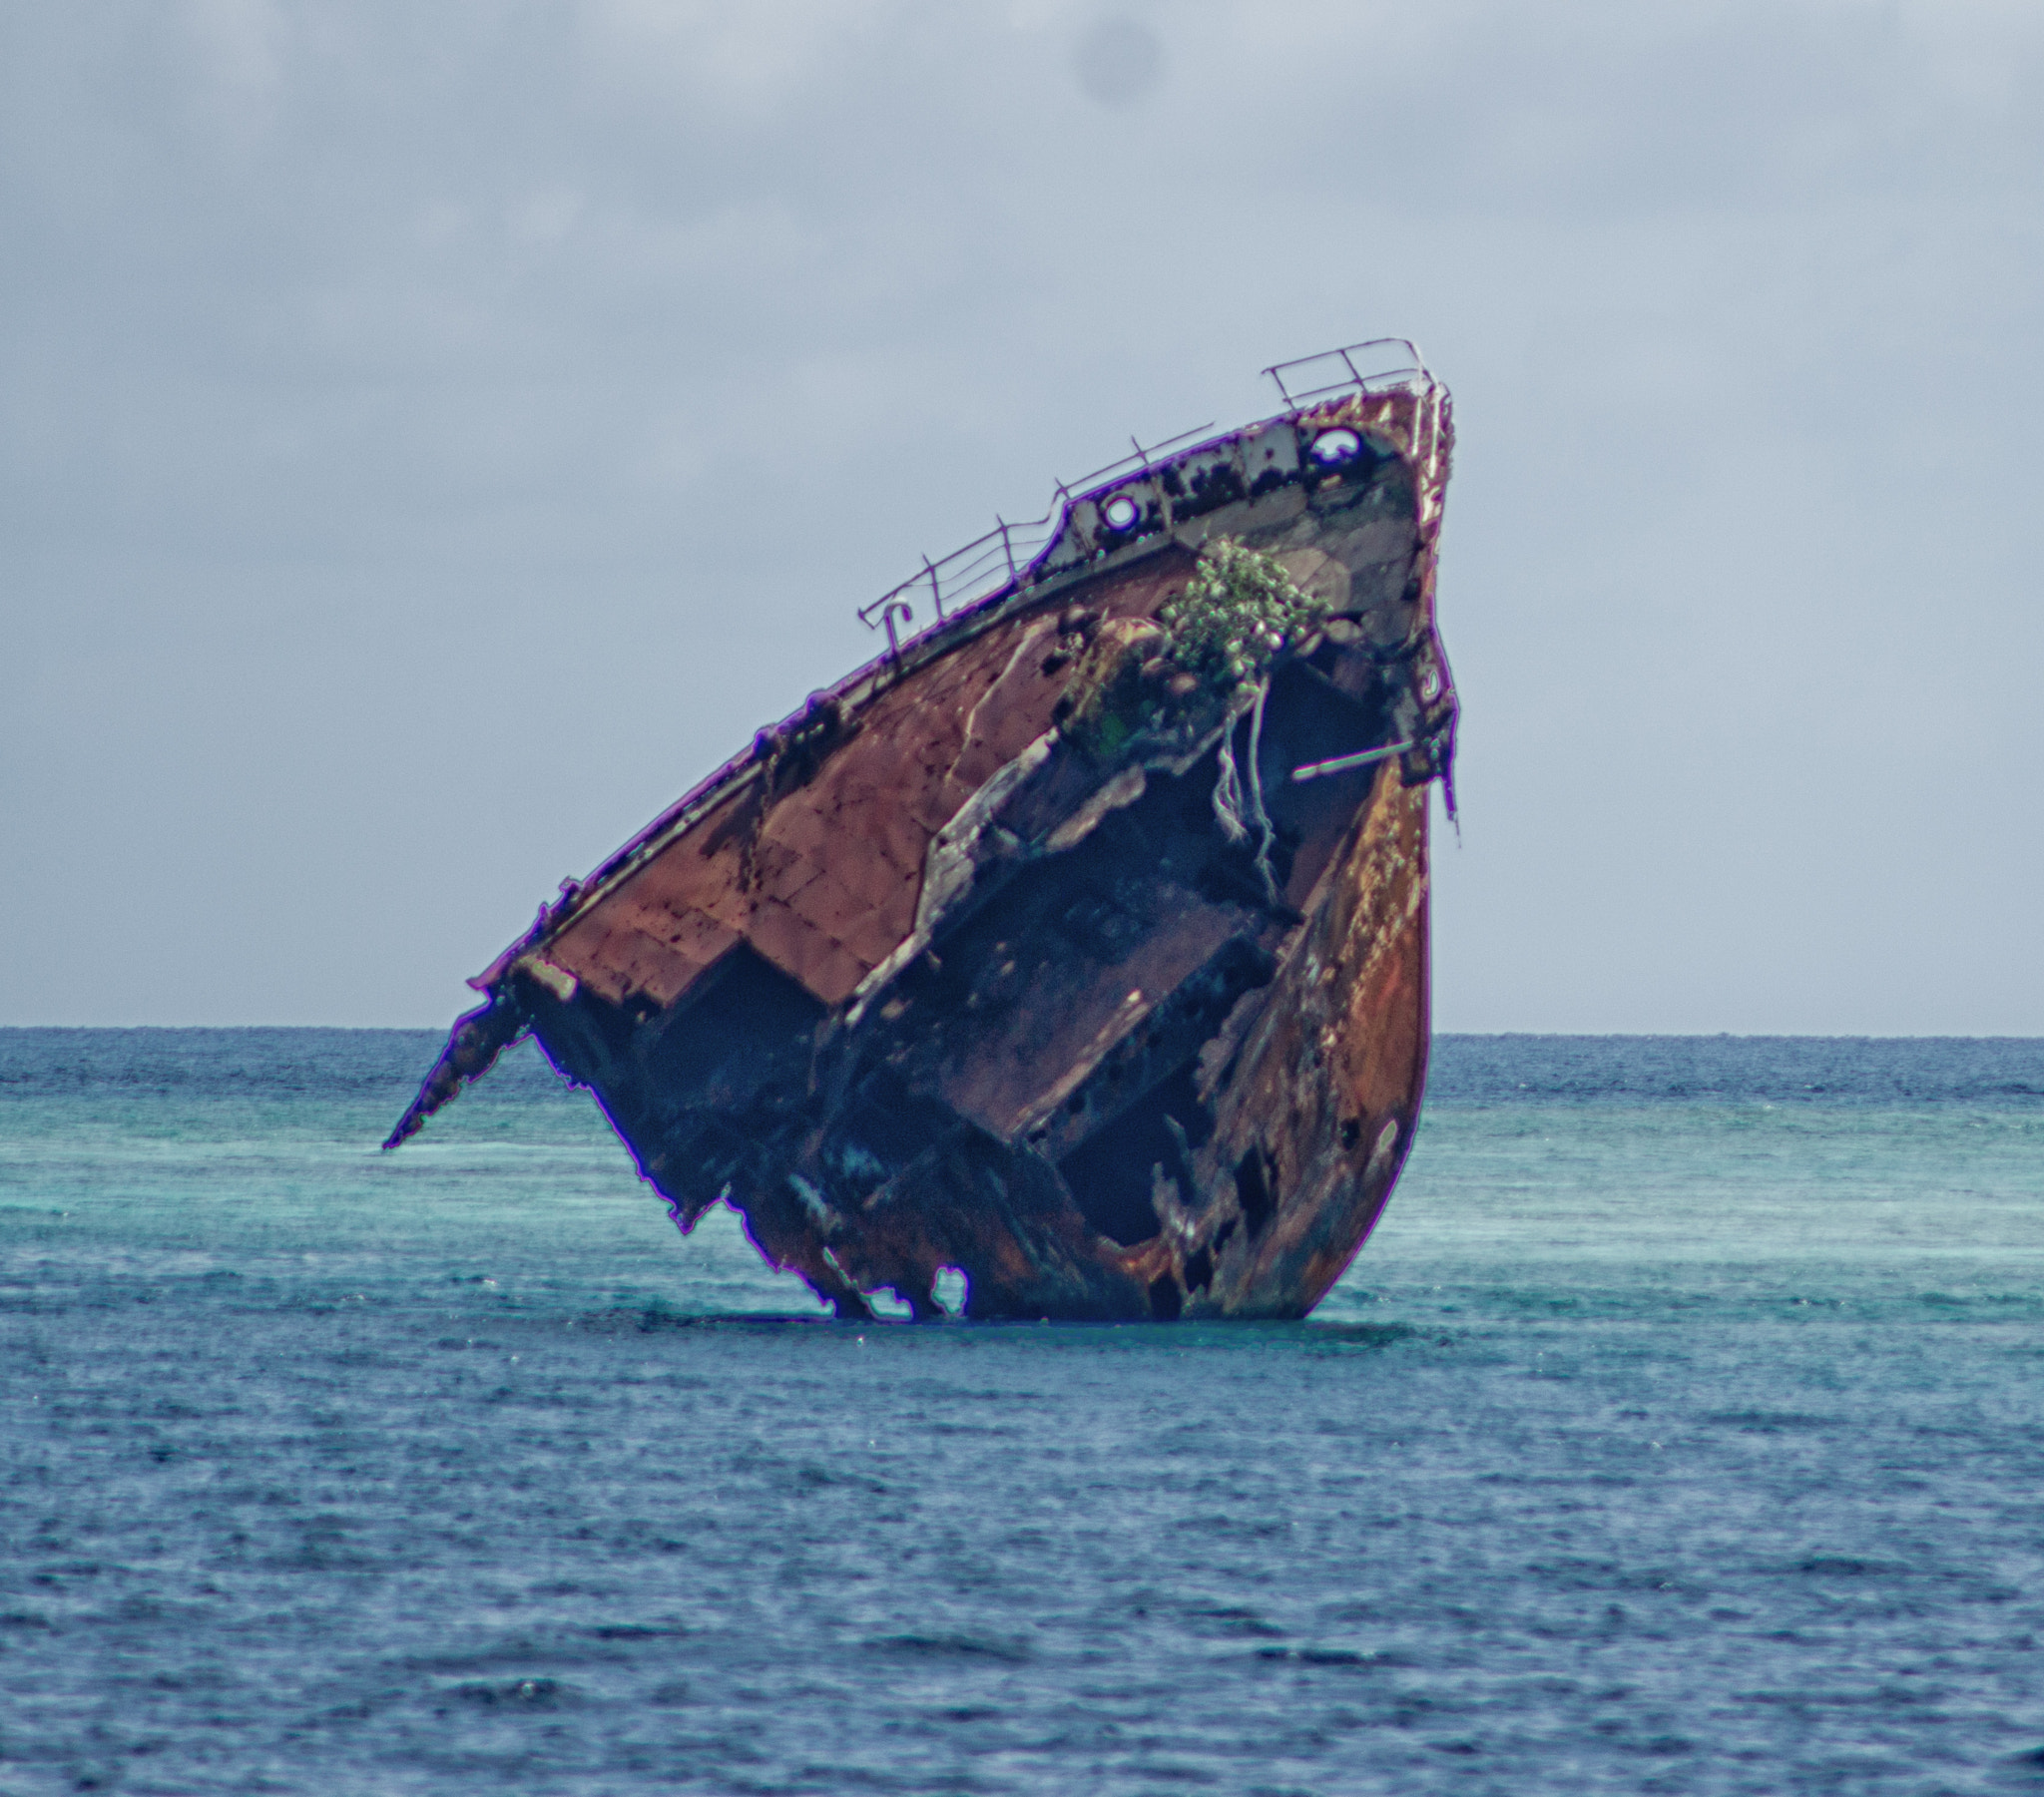
M 865 607 L 470 981 L 386 1147 L 529 1032 L 840 1317 L 1304 1317 L 1427 1075 L 1453 431 L 1398 339 L 1267 374 Z

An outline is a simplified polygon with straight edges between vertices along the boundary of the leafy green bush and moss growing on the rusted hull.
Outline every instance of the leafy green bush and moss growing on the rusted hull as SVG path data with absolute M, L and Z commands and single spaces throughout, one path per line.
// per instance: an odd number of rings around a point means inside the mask
M 1286 646 L 1325 615 L 1327 601 L 1300 591 L 1278 560 L 1216 538 L 1155 624 L 1122 619 L 1094 640 L 1067 689 L 1065 740 L 1114 761 L 1141 736 L 1177 734 L 1181 722 L 1259 689 Z

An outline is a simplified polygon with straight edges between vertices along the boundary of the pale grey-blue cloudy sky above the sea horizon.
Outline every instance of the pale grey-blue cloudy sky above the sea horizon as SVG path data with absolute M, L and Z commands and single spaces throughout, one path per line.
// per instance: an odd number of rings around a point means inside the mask
M 1457 1030 L 2044 1032 L 2044 8 L 0 0 L 0 1022 L 439 1024 L 1380 333 Z

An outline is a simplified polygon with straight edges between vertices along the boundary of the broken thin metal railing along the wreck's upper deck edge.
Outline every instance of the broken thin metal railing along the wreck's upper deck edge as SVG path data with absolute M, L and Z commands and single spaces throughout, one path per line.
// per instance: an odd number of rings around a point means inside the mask
M 1386 350 L 1404 350 L 1404 360 L 1376 354 Z M 1286 380 L 1288 374 L 1296 380 L 1298 370 L 1308 368 L 1318 368 L 1320 372 L 1339 370 L 1339 378 L 1318 386 L 1294 386 Z M 1414 380 L 1433 384 L 1433 374 L 1419 354 L 1419 345 L 1406 337 L 1372 337 L 1367 343 L 1349 343 L 1343 350 L 1327 350 L 1318 356 L 1304 356 L 1298 362 L 1280 362 L 1263 372 L 1278 382 L 1286 411 L 1300 411 L 1312 401 L 1351 388 L 1372 393 Z M 916 621 L 918 599 L 928 599 L 930 609 L 936 613 L 932 619 L 934 628 L 955 617 L 961 609 L 1020 585 L 1061 536 L 1075 501 L 1098 499 L 1108 487 L 1124 480 L 1128 474 L 1149 474 L 1159 460 L 1169 460 L 1186 450 L 1218 442 L 1202 435 L 1212 429 L 1212 423 L 1196 425 L 1149 448 L 1130 437 L 1132 454 L 1120 456 L 1104 468 L 1094 468 L 1091 474 L 1081 474 L 1077 480 L 1059 480 L 1051 497 L 1051 509 L 1042 517 L 1010 523 L 995 515 L 993 529 L 973 538 L 965 548 L 953 550 L 936 562 L 924 556 L 920 572 L 910 574 L 899 587 L 881 593 L 871 605 L 861 605 L 858 621 L 867 630 L 885 630 L 887 652 L 899 656 L 901 626 Z

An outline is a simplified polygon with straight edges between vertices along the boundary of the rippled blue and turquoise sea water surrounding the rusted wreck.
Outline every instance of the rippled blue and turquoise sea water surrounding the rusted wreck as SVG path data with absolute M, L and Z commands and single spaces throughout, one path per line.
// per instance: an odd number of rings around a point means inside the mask
M 836 1325 L 521 1051 L 0 1032 L 0 1791 L 2044 1791 L 2044 1043 L 1443 1039 L 1310 1323 Z

